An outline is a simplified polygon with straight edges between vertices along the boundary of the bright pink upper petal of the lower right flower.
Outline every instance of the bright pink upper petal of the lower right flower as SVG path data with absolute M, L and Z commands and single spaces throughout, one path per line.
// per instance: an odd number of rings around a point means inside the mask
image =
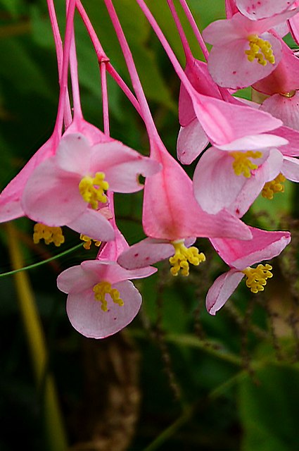
M 270 260 L 281 253 L 291 241 L 289 232 L 268 232 L 250 227 L 252 240 L 213 238 L 210 240 L 220 257 L 236 269 L 243 270 L 263 260 Z

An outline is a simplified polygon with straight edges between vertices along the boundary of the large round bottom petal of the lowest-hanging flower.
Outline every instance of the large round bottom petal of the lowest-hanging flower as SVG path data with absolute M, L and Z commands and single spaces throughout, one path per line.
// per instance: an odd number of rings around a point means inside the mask
M 125 280 L 113 285 L 120 292 L 124 305 L 115 304 L 106 295 L 108 311 L 101 309 L 101 302 L 94 299 L 92 290 L 68 295 L 67 313 L 72 326 L 85 337 L 105 338 L 127 326 L 139 312 L 141 295 L 133 283 Z

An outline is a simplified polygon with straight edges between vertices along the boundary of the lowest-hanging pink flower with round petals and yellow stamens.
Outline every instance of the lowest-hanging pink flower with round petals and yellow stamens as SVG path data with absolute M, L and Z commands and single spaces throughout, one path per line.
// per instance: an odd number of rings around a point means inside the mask
M 141 306 L 141 295 L 129 279 L 148 277 L 156 271 L 120 267 L 115 260 L 128 245 L 117 230 L 115 235 L 116 240 L 101 249 L 98 259 L 72 266 L 57 279 L 59 290 L 68 294 L 70 323 L 86 337 L 105 338 L 127 326 Z

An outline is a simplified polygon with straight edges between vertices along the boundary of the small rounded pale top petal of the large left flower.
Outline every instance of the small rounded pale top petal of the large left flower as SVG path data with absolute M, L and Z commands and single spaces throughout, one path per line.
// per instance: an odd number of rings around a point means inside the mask
M 91 144 L 81 133 L 63 136 L 56 152 L 58 168 L 79 175 L 87 175 L 90 169 Z

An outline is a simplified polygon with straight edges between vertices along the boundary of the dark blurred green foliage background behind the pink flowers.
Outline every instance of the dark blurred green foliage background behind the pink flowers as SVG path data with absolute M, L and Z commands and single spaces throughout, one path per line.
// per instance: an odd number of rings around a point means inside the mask
M 166 1 L 148 0 L 174 51 L 184 54 Z M 177 2 L 178 3 L 178 2 Z M 224 1 L 190 0 L 201 30 L 224 17 Z M 129 76 L 106 8 L 84 2 L 110 61 Z M 179 80 L 134 0 L 115 0 L 160 135 L 175 156 Z M 63 30 L 65 1 L 56 1 Z M 191 49 L 201 58 L 182 10 Z M 103 128 L 96 56 L 76 18 L 82 106 Z M 0 189 L 50 136 L 56 118 L 58 76 L 44 0 L 0 0 Z M 110 130 L 115 139 L 148 152 L 144 125 L 113 80 L 108 80 Z M 248 89 L 240 93 L 250 97 Z M 192 175 L 194 166 L 186 168 Z M 129 244 L 144 237 L 142 194 L 115 195 L 120 230 Z M 172 278 L 167 264 L 139 280 L 144 302 L 121 333 L 105 340 L 82 337 L 65 313 L 56 288 L 63 269 L 94 258 L 65 230 L 58 250 L 32 241 L 33 223 L 0 226 L 0 450 L 243 450 L 298 449 L 298 192 L 260 197 L 246 222 L 291 230 L 292 242 L 274 261 L 264 293 L 244 285 L 217 316 L 205 295 L 226 271 L 208 241 L 207 261 L 189 278 Z M 72 252 L 66 252 L 76 247 Z M 87 254 L 89 252 L 89 254 Z M 63 253 L 61 257 L 57 254 Z

